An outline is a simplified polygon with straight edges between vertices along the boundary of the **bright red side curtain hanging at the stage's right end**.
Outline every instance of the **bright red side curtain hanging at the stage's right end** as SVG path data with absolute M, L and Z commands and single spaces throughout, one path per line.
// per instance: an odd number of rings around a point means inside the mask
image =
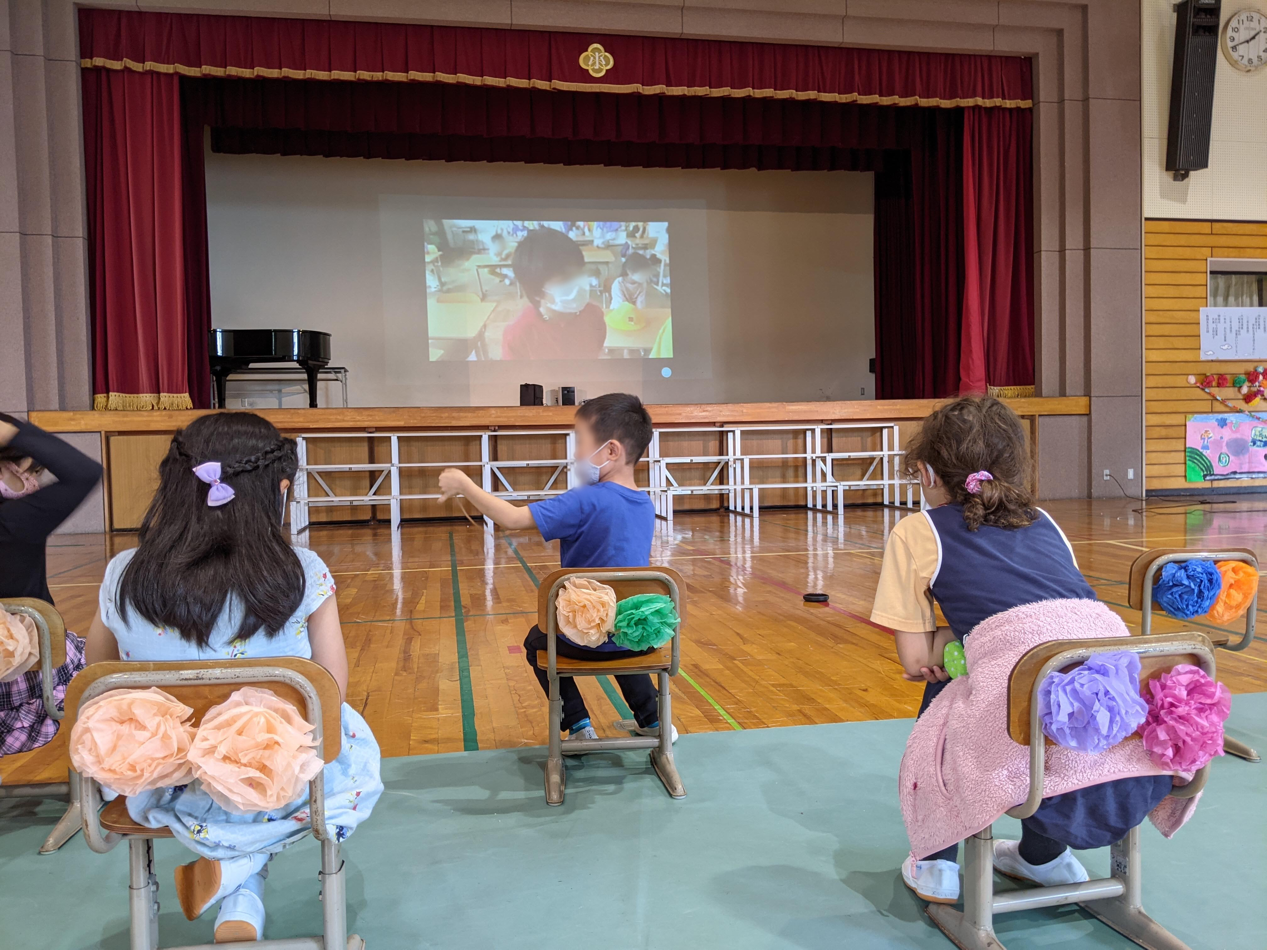
M 963 115 L 959 391 L 1033 394 L 1033 115 L 1025 109 Z

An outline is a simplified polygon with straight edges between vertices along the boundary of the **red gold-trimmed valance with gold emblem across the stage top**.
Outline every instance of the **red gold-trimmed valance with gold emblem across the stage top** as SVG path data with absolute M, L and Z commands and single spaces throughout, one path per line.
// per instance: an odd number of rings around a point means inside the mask
M 590 43 L 606 75 L 579 63 Z M 1028 108 L 1022 57 L 262 16 L 80 10 L 85 67 L 669 96 Z

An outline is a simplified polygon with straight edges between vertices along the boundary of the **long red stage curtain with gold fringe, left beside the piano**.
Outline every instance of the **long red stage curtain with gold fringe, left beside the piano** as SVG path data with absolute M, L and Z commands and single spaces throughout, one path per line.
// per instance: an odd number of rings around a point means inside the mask
M 84 70 L 82 87 L 94 405 L 189 409 L 180 81 Z

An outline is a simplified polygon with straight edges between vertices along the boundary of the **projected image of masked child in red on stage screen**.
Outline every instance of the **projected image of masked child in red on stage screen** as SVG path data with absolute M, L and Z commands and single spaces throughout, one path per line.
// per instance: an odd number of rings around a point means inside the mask
M 432 360 L 666 358 L 665 222 L 427 220 Z

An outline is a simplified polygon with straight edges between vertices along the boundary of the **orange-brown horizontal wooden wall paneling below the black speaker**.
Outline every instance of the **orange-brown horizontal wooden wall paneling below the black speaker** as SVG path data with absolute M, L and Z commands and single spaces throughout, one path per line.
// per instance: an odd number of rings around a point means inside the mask
M 1238 361 L 1200 358 L 1200 312 L 1210 257 L 1267 257 L 1267 223 L 1144 222 L 1145 489 L 1207 488 L 1187 481 L 1185 423 L 1197 413 L 1232 410 L 1188 385 L 1187 376 L 1234 376 L 1249 369 Z M 1240 394 L 1230 386 L 1220 395 L 1240 404 Z M 1267 479 L 1232 484 L 1256 488 L 1267 485 Z

